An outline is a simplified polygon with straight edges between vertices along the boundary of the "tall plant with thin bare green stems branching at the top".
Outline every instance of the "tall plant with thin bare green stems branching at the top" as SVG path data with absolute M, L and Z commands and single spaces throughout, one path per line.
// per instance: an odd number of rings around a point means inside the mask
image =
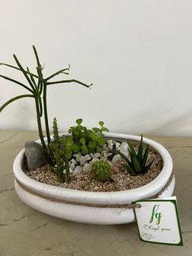
M 35 48 L 35 46 L 33 46 L 33 51 L 34 51 L 34 55 L 37 61 L 37 73 L 32 73 L 29 68 L 24 68 L 21 64 L 20 61 L 18 60 L 18 58 L 16 57 L 16 55 L 13 55 L 14 60 L 16 65 L 11 65 L 11 64 L 4 64 L 4 63 L 0 63 L 2 65 L 5 65 L 9 68 L 14 68 L 18 71 L 20 71 L 21 73 L 24 74 L 24 77 L 26 78 L 28 85 L 25 85 L 23 82 L 19 82 L 11 77 L 7 77 L 4 76 L 2 74 L 0 74 L 0 77 L 2 77 L 3 79 L 6 79 L 10 82 L 15 83 L 18 86 L 22 86 L 24 87 L 24 89 L 28 90 L 29 94 L 24 94 L 24 95 L 19 95 L 16 96 L 12 99 L 9 99 L 5 104 L 2 105 L 2 107 L 0 108 L 0 113 L 2 112 L 2 109 L 6 108 L 8 104 L 11 104 L 12 102 L 14 102 L 17 99 L 22 99 L 22 98 L 33 98 L 35 100 L 35 106 L 36 106 L 36 113 L 37 113 L 37 126 L 38 126 L 38 131 L 39 131 L 39 137 L 41 139 L 41 144 L 43 146 L 43 148 L 46 151 L 46 157 L 47 160 L 50 161 L 51 163 L 51 148 L 50 148 L 50 129 L 49 129 L 49 120 L 48 120 L 48 113 L 47 113 L 47 103 L 46 103 L 46 90 L 48 86 L 51 85 L 55 85 L 55 84 L 60 84 L 60 83 L 71 83 L 71 82 L 75 82 L 80 84 L 81 86 L 85 86 L 87 88 L 89 88 L 90 86 L 92 86 L 92 84 L 90 85 L 86 85 L 84 82 L 80 82 L 76 79 L 66 79 L 66 80 L 59 80 L 59 81 L 52 81 L 51 79 L 54 78 L 55 76 L 59 75 L 60 73 L 63 73 L 65 75 L 69 74 L 69 69 L 70 66 L 68 68 L 63 68 L 61 70 L 59 70 L 56 73 L 51 74 L 49 77 L 44 77 L 42 70 L 43 70 L 43 66 L 40 63 L 38 54 L 37 54 L 37 50 Z M 47 137 L 47 146 L 44 140 L 44 135 L 43 135 L 43 131 L 42 131 L 42 126 L 41 126 L 41 118 L 44 116 L 44 121 L 45 121 L 45 126 L 46 126 L 46 137 Z

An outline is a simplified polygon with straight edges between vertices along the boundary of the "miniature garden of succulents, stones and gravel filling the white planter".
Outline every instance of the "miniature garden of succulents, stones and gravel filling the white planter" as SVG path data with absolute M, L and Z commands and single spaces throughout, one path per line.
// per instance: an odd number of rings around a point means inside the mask
M 43 67 L 33 46 L 37 60 L 37 73 L 24 68 L 16 55 L 16 66 L 2 64 L 14 68 L 24 74 L 28 85 L 11 77 L 0 75 L 3 79 L 24 87 L 28 94 L 19 95 L 3 104 L 8 104 L 21 98 L 33 98 L 37 113 L 37 126 L 40 143 L 28 141 L 25 143 L 24 173 L 31 179 L 53 186 L 72 188 L 92 192 L 115 192 L 139 188 L 155 179 L 163 168 L 163 160 L 158 152 L 143 143 L 106 138 L 108 129 L 103 121 L 98 121 L 98 127 L 92 129 L 83 126 L 81 118 L 76 125 L 68 129 L 68 133 L 59 134 L 57 119 L 53 121 L 53 136 L 50 135 L 50 123 L 47 113 L 47 87 L 60 83 L 78 83 L 89 88 L 76 79 L 52 81 L 59 74 L 68 75 L 69 69 L 43 77 Z M 45 123 L 46 134 L 42 130 Z

